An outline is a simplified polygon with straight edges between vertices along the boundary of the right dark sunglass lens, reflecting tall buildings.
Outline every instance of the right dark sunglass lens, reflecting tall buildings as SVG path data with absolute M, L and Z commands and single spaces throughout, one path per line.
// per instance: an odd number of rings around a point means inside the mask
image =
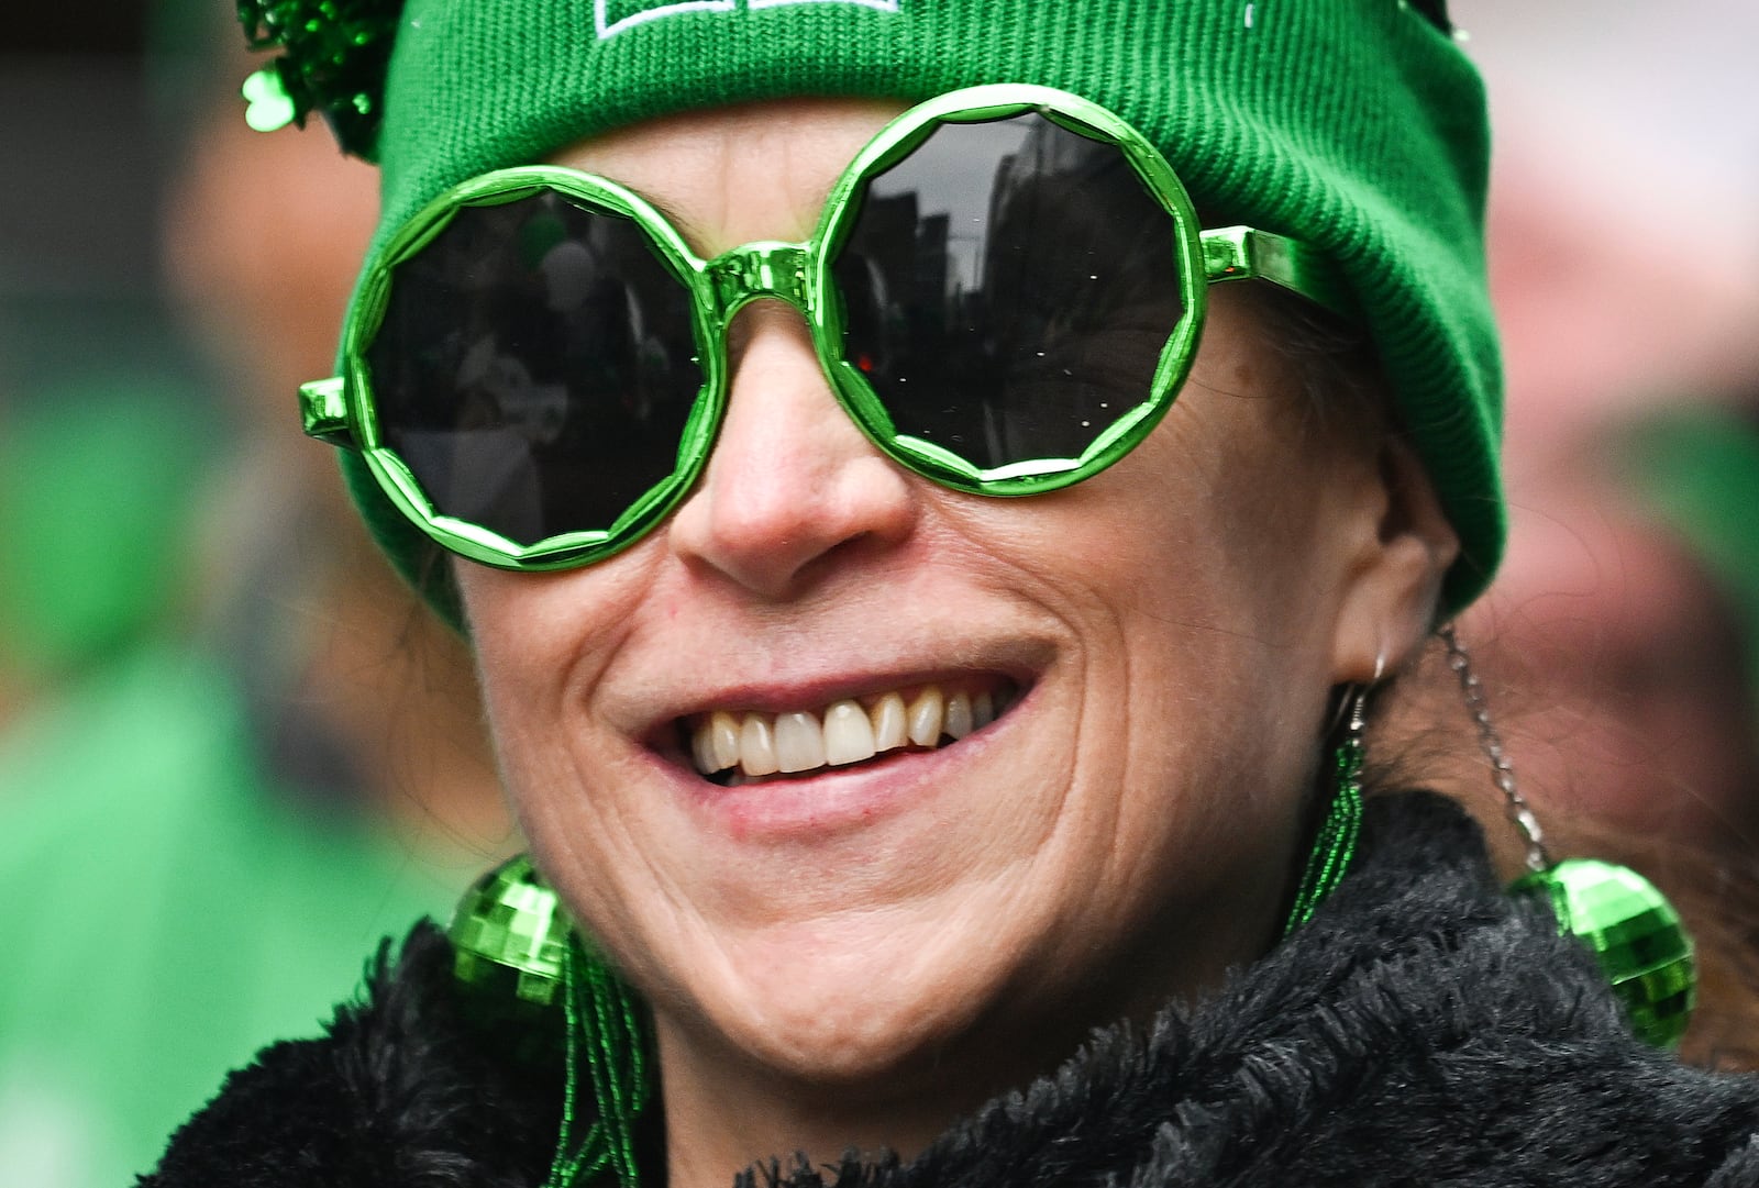
M 1112 144 L 1038 114 L 941 125 L 837 257 L 844 359 L 899 432 L 980 467 L 1078 457 L 1149 395 L 1184 308 L 1173 239 Z

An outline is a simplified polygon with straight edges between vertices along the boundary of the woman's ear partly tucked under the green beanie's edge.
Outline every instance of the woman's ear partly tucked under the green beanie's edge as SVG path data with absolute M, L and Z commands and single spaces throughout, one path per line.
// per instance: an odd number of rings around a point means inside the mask
M 1397 671 L 1435 626 L 1441 580 L 1460 540 L 1416 453 L 1381 448 L 1372 540 L 1354 555 L 1332 636 L 1332 680 L 1367 684 Z

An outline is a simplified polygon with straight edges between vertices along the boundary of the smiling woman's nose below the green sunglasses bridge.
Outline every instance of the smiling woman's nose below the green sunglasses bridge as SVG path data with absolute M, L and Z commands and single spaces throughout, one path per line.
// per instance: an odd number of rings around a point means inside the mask
M 881 455 L 830 392 L 806 322 L 779 301 L 739 313 L 726 415 L 674 552 L 767 601 L 797 598 L 832 557 L 885 548 L 918 517 L 916 478 Z

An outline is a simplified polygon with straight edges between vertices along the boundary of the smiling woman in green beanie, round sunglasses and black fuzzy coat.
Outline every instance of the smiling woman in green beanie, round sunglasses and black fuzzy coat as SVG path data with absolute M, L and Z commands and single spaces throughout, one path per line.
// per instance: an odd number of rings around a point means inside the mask
M 529 861 L 146 1183 L 1759 1176 L 1666 902 L 1363 807 L 1500 550 L 1439 4 L 336 7 L 253 23 L 385 167 L 306 424 Z

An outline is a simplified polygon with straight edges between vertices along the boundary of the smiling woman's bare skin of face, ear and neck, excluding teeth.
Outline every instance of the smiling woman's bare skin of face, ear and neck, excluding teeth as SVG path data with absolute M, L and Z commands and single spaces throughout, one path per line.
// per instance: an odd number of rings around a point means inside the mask
M 890 111 L 686 114 L 558 160 L 707 257 L 802 239 Z M 1274 940 L 1332 689 L 1414 648 L 1453 536 L 1407 455 L 1312 427 L 1258 334 L 1214 288 L 1150 438 L 1001 501 L 880 455 L 760 302 L 665 525 L 570 573 L 459 562 L 538 863 L 654 1005 L 672 1183 L 909 1153 Z M 996 675 L 1027 692 L 990 728 L 804 780 L 716 787 L 674 726 Z

